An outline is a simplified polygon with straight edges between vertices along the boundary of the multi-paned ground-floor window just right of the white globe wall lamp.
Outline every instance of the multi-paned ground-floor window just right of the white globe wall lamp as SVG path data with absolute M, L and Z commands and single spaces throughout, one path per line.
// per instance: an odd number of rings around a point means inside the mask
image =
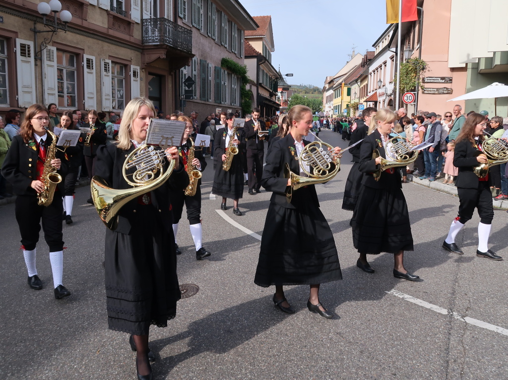
M 45 53 L 53 54 L 53 51 L 46 50 Z M 58 88 L 58 108 L 77 108 L 76 78 L 76 55 L 57 50 L 56 80 Z

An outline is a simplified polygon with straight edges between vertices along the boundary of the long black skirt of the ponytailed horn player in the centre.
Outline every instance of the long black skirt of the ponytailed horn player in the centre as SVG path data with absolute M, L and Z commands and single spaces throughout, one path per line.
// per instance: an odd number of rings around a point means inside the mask
M 270 203 L 255 284 L 266 288 L 341 279 L 333 234 L 321 210 L 311 205 L 286 209 Z

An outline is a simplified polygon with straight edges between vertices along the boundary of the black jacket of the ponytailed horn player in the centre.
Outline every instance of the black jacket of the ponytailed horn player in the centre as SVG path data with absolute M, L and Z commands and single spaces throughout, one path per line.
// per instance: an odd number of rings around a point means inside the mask
M 303 140 L 304 145 L 310 144 Z M 286 200 L 285 191 L 288 188 L 288 179 L 284 178 L 285 163 L 296 175 L 300 175 L 300 164 L 295 148 L 295 139 L 291 133 L 270 145 L 270 153 L 266 157 L 261 185 L 272 192 L 270 202 L 287 209 L 298 209 L 302 203 L 310 203 L 319 207 L 319 200 L 314 185 L 293 191 L 291 203 Z

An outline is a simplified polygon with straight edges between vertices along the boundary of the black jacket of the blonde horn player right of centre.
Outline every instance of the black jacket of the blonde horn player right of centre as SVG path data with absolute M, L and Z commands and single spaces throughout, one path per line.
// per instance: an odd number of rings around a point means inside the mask
M 358 169 L 366 174 L 363 176 L 362 185 L 373 189 L 402 188 L 400 172 L 397 168 L 394 168 L 392 174 L 382 171 L 379 181 L 374 180 L 372 173 L 379 169 L 379 165 L 376 165 L 375 159 L 372 159 L 372 153 L 377 149 L 379 155 L 386 159 L 385 148 L 379 131 L 376 129 L 365 137 L 360 146 L 360 165 Z

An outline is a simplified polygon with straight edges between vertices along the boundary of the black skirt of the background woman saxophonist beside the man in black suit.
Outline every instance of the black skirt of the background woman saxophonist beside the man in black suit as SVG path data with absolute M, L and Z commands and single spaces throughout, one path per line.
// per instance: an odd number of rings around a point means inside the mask
M 228 171 L 222 168 L 223 161 L 217 158 L 217 167 L 213 177 L 212 194 L 230 199 L 243 196 L 243 164 L 241 152 L 235 155 Z

